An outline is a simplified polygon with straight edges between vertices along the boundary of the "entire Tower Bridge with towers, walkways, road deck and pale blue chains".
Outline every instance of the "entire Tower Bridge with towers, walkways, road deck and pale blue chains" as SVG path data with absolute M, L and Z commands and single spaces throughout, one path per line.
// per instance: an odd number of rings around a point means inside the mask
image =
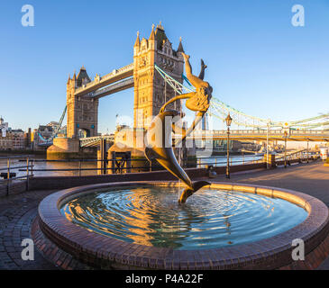
M 48 139 L 53 145 L 47 153 L 76 153 L 80 147 L 97 145 L 100 139 L 113 141 L 98 135 L 99 99 L 110 94 L 133 88 L 133 130 L 147 130 L 152 115 L 160 112 L 160 107 L 178 94 L 193 91 L 184 85 L 184 52 L 181 39 L 174 49 L 163 26 L 152 25 L 148 39 L 137 38 L 133 45 L 133 63 L 114 69 L 105 76 L 96 75 L 93 80 L 85 67 L 69 76 L 67 82 L 67 135 L 66 138 Z M 169 109 L 181 110 L 180 102 L 171 103 Z M 282 140 L 282 130 L 289 131 L 288 140 L 328 141 L 329 114 L 322 114 L 300 121 L 270 121 L 247 115 L 213 97 L 207 114 L 224 121 L 230 113 L 238 130 L 231 133 L 231 139 L 239 140 Z M 63 121 L 65 111 L 62 114 Z M 243 127 L 243 130 L 241 129 Z M 81 139 L 80 132 L 85 137 Z M 194 133 L 196 139 L 225 139 L 226 131 L 203 131 Z M 286 136 L 287 137 L 287 136 Z

